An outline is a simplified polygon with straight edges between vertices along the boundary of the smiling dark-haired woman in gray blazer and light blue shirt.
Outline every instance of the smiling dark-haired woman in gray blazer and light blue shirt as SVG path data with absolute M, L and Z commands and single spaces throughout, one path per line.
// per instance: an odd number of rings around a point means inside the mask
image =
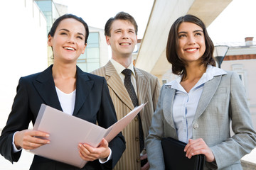
M 150 169 L 165 169 L 163 137 L 186 142 L 189 159 L 204 154 L 203 169 L 242 169 L 240 158 L 255 147 L 245 89 L 238 74 L 215 67 L 213 49 L 196 16 L 181 16 L 171 26 L 166 57 L 178 78 L 161 88 L 146 138 Z

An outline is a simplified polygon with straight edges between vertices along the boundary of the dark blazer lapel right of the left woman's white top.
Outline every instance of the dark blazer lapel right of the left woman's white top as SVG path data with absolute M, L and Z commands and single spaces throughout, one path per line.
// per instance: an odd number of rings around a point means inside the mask
M 87 73 L 82 72 L 82 70 L 77 67 L 77 81 L 76 81 L 76 93 L 75 93 L 75 108 L 73 115 L 77 115 L 78 111 L 82 107 L 87 96 L 90 94 L 90 90 L 94 81 L 89 79 Z

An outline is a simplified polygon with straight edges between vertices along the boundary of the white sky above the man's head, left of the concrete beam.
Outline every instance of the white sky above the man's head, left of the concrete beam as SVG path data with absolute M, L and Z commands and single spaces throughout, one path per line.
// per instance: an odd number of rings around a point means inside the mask
M 110 17 L 124 11 L 132 15 L 138 25 L 138 38 L 142 39 L 154 0 L 53 0 L 68 6 L 68 13 L 84 19 L 88 26 L 104 29 Z

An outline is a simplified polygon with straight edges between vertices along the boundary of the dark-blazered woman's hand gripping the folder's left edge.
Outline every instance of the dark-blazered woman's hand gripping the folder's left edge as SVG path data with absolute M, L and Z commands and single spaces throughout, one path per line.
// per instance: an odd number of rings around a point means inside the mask
M 43 145 L 49 144 L 50 140 L 43 140 L 38 137 L 49 137 L 50 135 L 46 132 L 37 130 L 22 130 L 16 132 L 14 135 L 14 144 L 17 149 L 21 147 L 23 149 L 36 149 Z

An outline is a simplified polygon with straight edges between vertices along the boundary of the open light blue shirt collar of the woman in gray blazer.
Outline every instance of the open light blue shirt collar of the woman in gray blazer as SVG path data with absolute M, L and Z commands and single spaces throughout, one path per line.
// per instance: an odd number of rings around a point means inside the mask
M 200 86 L 201 84 L 204 84 L 207 81 L 213 79 L 213 77 L 220 76 L 223 74 L 227 74 L 227 72 L 225 72 L 223 69 L 219 69 L 217 67 L 213 67 L 212 65 L 208 64 L 207 68 L 206 68 L 206 72 L 203 74 L 201 79 L 199 79 L 199 81 L 197 82 L 197 84 L 194 87 Z M 167 85 L 167 86 L 171 85 L 172 89 L 178 89 L 178 87 L 180 86 L 180 83 L 181 83 L 182 76 L 183 75 L 178 76 L 177 79 L 175 79 L 174 81 L 171 81 L 165 85 Z

